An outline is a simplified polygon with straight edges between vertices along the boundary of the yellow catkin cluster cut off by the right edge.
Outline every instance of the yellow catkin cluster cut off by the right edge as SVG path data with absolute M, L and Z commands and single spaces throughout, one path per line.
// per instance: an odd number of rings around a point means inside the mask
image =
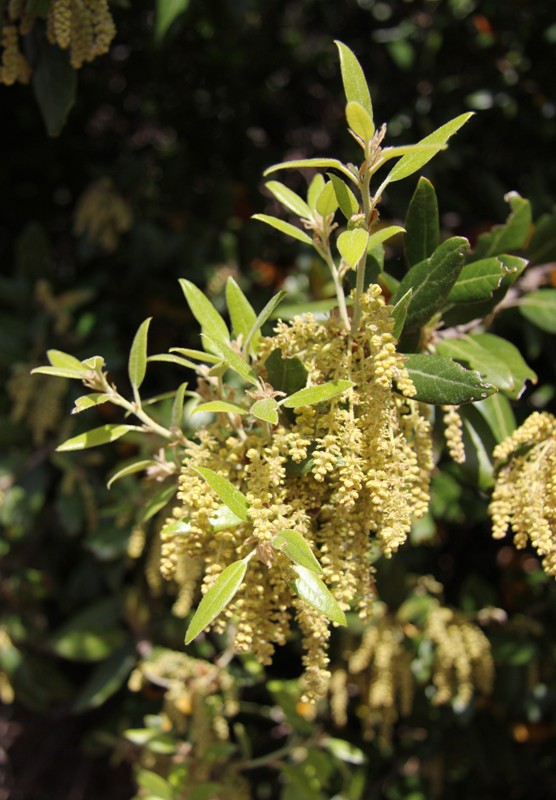
M 529 540 L 556 576 L 556 418 L 534 412 L 495 448 L 494 459 L 492 535 L 501 539 L 511 528 L 515 546 Z

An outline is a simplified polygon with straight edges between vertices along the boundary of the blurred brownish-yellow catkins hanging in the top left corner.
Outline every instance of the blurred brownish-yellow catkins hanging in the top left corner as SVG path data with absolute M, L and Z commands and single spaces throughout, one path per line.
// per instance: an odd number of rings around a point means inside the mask
M 29 83 L 31 66 L 23 55 L 21 37 L 35 25 L 38 14 L 28 0 L 5 4 L 1 39 L 0 83 Z M 108 0 L 52 0 L 46 16 L 46 35 L 52 44 L 69 50 L 70 64 L 79 69 L 108 52 L 116 34 Z

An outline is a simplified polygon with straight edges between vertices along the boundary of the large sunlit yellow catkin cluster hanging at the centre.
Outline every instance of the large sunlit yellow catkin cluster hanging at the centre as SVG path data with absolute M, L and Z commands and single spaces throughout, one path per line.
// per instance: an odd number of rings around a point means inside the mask
M 181 571 L 191 601 L 201 576 L 206 592 L 227 565 L 257 546 L 259 558 L 249 563 L 245 583 L 213 628 L 223 631 L 237 619 L 236 650 L 269 664 L 295 617 L 308 698 L 326 691 L 329 625 L 292 592 L 290 562 L 270 540 L 284 529 L 302 534 L 341 608 L 354 607 L 366 618 L 373 602 L 372 553 L 377 544 L 387 556 L 397 550 L 412 517 L 428 506 L 430 426 L 417 403 L 393 391 L 395 382 L 410 395 L 413 385 L 391 329 L 377 286 L 363 298 L 353 340 L 335 316 L 324 323 L 310 315 L 279 323 L 260 346 L 263 377 L 265 360 L 279 348 L 283 358 L 303 361 L 309 384 L 349 376 L 355 387 L 335 402 L 297 409 L 289 423 L 269 428 L 255 421 L 238 429 L 219 419 L 201 430 L 186 448 L 181 505 L 162 530 L 162 572 L 180 580 Z M 199 391 L 210 397 L 210 382 Z M 246 495 L 249 522 L 218 523 L 221 503 L 192 469 L 199 466 Z

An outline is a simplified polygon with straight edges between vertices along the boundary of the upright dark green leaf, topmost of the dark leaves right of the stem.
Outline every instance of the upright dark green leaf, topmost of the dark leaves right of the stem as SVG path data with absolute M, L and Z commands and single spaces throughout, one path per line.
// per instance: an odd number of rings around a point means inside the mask
M 438 201 L 432 183 L 419 178 L 405 218 L 404 250 L 410 267 L 429 258 L 440 242 Z

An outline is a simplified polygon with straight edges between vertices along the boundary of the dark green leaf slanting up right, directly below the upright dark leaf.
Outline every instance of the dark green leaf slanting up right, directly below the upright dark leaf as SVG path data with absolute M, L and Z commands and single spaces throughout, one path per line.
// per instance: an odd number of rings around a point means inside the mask
M 436 248 L 430 258 L 412 267 L 401 280 L 392 302 L 413 289 L 404 331 L 421 327 L 444 305 L 465 260 L 469 242 L 453 236 Z

